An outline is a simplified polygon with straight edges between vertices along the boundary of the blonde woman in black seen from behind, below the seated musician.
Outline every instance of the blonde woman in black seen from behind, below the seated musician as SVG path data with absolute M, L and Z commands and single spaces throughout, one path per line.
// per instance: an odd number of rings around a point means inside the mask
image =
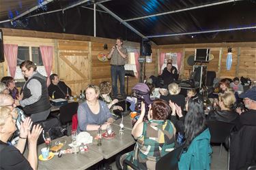
M 160 95 L 160 99 L 163 99 L 169 103 L 171 100 L 173 103 L 176 103 L 181 107 L 181 109 L 184 109 L 185 106 L 185 97 L 184 95 L 180 95 L 180 87 L 176 83 L 171 83 L 168 86 L 169 95 Z M 161 93 L 161 90 L 159 91 Z

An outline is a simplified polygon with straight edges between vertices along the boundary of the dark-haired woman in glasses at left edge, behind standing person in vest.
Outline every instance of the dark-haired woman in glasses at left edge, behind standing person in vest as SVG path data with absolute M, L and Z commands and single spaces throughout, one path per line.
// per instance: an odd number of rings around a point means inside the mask
M 8 86 L 10 95 L 13 99 L 18 99 L 18 89 L 15 86 L 15 80 L 11 76 L 5 76 L 1 78 L 1 82 Z

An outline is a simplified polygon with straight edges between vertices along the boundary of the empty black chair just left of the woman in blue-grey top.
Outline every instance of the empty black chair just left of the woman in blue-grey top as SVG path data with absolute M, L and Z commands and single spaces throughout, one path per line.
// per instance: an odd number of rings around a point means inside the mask
M 79 103 L 77 102 L 68 103 L 59 107 L 59 121 L 62 125 L 67 124 L 68 133 L 70 125 L 69 123 L 72 122 L 72 116 L 76 114 L 78 107 Z

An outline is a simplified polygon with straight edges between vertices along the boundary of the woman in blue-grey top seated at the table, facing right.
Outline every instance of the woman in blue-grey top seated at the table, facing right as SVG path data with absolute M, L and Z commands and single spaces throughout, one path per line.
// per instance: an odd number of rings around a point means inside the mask
M 99 95 L 98 86 L 89 85 L 85 88 L 86 101 L 77 110 L 78 132 L 97 131 L 99 128 L 106 130 L 106 126 L 114 121 L 106 103 L 98 100 Z

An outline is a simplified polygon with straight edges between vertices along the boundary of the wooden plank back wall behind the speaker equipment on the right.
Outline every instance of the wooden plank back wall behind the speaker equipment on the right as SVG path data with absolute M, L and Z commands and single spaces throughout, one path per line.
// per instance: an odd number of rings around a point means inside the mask
M 231 69 L 227 71 L 227 49 L 232 48 L 233 62 Z M 181 52 L 184 51 L 182 62 L 182 75 L 180 77 L 189 77 L 192 67 L 186 61 L 188 56 L 195 54 L 196 48 L 210 48 L 214 59 L 208 66 L 208 71 L 216 71 L 218 78 L 248 77 L 256 79 L 256 42 L 243 43 L 218 43 L 218 44 L 179 44 L 158 46 L 160 52 Z

